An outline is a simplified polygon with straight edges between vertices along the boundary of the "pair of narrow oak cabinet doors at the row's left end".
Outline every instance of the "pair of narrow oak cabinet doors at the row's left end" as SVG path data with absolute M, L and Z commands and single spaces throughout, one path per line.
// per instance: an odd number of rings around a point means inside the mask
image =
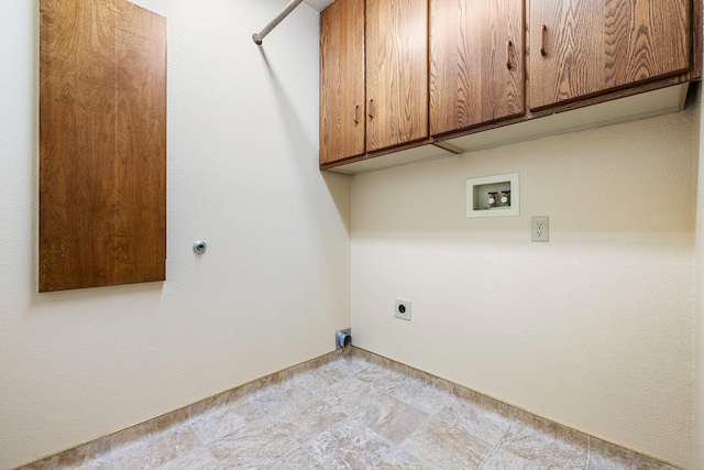
M 338 0 L 321 13 L 321 165 L 428 138 L 427 37 L 427 0 Z

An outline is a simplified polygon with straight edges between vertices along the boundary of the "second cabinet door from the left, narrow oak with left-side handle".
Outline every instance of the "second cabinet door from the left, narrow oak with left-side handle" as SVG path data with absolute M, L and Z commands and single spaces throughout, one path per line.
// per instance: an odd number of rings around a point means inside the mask
M 366 1 L 367 151 L 428 136 L 428 2 Z

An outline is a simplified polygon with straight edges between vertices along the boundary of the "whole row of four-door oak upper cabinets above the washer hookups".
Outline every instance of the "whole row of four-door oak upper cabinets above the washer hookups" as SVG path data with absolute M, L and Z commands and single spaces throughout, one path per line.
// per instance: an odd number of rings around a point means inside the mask
M 632 111 L 607 113 L 623 120 L 682 109 L 686 84 L 702 77 L 703 8 L 695 0 L 337 0 L 321 22 L 320 167 L 354 173 L 378 168 L 363 161 L 380 156 L 397 165 L 462 153 L 482 146 L 480 138 L 469 144 L 470 134 L 669 87 L 679 91 L 650 96 L 652 107 L 628 100 Z M 572 128 L 594 124 L 580 119 Z M 539 122 L 506 139 L 550 132 Z

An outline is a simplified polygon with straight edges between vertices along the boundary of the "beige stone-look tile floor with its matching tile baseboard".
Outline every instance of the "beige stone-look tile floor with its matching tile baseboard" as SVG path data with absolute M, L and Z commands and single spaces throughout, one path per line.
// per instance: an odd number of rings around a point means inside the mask
M 674 469 L 356 348 L 30 469 Z

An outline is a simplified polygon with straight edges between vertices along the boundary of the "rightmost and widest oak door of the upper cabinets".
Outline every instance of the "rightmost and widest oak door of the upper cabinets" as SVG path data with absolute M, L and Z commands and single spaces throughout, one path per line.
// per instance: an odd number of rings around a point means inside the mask
M 530 0 L 530 108 L 684 72 L 692 0 Z

